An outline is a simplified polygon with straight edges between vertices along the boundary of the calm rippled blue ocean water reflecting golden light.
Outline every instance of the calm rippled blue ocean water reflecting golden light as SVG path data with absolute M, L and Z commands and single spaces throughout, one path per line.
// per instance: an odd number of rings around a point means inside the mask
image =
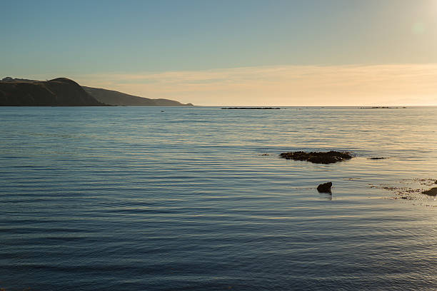
M 437 107 L 298 109 L 0 108 L 0 287 L 437 290 Z

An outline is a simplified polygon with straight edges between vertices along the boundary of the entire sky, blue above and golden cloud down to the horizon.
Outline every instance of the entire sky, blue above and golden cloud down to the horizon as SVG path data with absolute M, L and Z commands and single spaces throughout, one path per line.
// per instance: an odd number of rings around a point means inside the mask
M 437 0 L 0 4 L 0 78 L 204 106 L 437 105 Z

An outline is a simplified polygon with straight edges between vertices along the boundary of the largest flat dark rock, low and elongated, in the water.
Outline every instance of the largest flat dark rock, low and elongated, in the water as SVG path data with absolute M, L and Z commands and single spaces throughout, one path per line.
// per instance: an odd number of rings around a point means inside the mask
M 281 158 L 286 158 L 287 160 L 306 160 L 311 163 L 336 163 L 341 160 L 349 160 L 352 158 L 349 153 L 341 153 L 335 150 L 328 152 L 311 152 L 306 153 L 303 151 L 281 153 L 279 155 Z

